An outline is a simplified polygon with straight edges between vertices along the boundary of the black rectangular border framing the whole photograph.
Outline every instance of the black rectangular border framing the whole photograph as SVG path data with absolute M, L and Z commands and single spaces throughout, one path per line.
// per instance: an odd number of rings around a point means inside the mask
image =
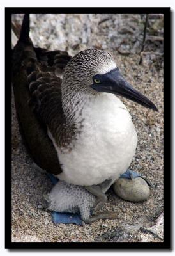
M 171 249 L 171 10 L 166 8 L 5 8 L 5 248 L 8 249 Z M 12 13 L 162 13 L 164 14 L 164 242 L 12 242 L 11 241 L 11 14 Z M 164 172 L 165 174 L 165 172 Z

